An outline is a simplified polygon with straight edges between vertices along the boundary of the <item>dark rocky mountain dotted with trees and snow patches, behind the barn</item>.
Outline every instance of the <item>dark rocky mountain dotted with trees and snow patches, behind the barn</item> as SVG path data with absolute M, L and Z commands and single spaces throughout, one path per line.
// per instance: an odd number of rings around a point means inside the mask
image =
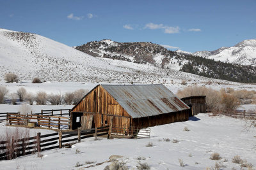
M 256 82 L 255 67 L 215 61 L 181 50 L 173 52 L 151 42 L 119 43 L 103 39 L 76 46 L 76 49 L 102 59 L 124 60 L 221 80 Z M 225 50 L 225 48 L 220 48 L 216 52 L 221 50 Z

